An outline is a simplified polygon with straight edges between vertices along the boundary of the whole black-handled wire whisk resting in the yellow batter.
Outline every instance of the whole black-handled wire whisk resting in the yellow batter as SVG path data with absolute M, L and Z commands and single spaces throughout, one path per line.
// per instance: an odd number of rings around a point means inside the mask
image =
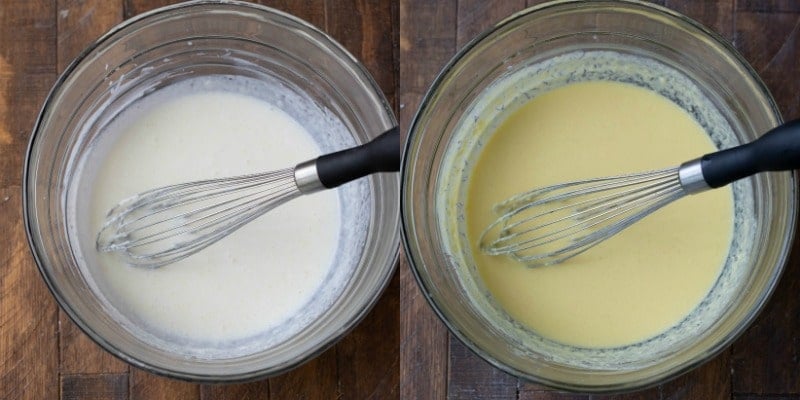
M 675 168 L 561 183 L 498 203 L 481 251 L 528 266 L 560 263 L 688 194 L 764 171 L 800 168 L 800 120 Z

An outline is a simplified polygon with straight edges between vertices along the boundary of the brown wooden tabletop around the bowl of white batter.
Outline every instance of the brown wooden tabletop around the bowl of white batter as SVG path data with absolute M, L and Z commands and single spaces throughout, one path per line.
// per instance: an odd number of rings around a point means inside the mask
M 33 262 L 21 213 L 31 129 L 63 68 L 91 41 L 162 0 L 0 2 L 0 399 L 392 399 L 399 390 L 399 279 L 336 346 L 259 382 L 198 385 L 130 367 L 59 310 Z M 265 1 L 310 21 L 363 61 L 396 104 L 397 13 L 392 2 Z

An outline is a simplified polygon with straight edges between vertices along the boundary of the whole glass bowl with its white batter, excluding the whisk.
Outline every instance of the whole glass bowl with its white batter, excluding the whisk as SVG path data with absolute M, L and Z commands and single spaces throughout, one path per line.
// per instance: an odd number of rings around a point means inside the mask
M 305 22 L 238 2 L 155 10 L 98 40 L 45 103 L 25 171 L 34 256 L 78 326 L 136 366 L 204 381 L 284 372 L 388 283 L 396 175 L 297 199 L 159 270 L 97 254 L 103 215 L 154 186 L 291 167 L 395 125 L 363 66 Z

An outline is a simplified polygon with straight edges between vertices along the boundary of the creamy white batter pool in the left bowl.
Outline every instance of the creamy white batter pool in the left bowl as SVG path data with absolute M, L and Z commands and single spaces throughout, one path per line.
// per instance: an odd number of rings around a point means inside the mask
M 226 86 L 205 78 L 138 101 L 106 127 L 84 168 L 88 207 L 77 224 L 89 273 L 131 329 L 163 343 L 213 348 L 252 343 L 248 338 L 264 333 L 277 339 L 307 325 L 335 298 L 327 289 L 321 293 L 323 284 L 344 281 L 332 271 L 341 233 L 333 190 L 301 196 L 158 269 L 92 251 L 107 211 L 126 197 L 179 182 L 291 167 L 321 154 L 292 116 L 263 99 L 220 89 Z

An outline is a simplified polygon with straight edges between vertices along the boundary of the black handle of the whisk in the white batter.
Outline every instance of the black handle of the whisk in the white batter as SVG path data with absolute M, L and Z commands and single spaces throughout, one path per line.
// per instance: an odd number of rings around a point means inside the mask
M 369 143 L 317 158 L 317 175 L 326 188 L 375 172 L 400 170 L 400 131 L 397 127 Z

